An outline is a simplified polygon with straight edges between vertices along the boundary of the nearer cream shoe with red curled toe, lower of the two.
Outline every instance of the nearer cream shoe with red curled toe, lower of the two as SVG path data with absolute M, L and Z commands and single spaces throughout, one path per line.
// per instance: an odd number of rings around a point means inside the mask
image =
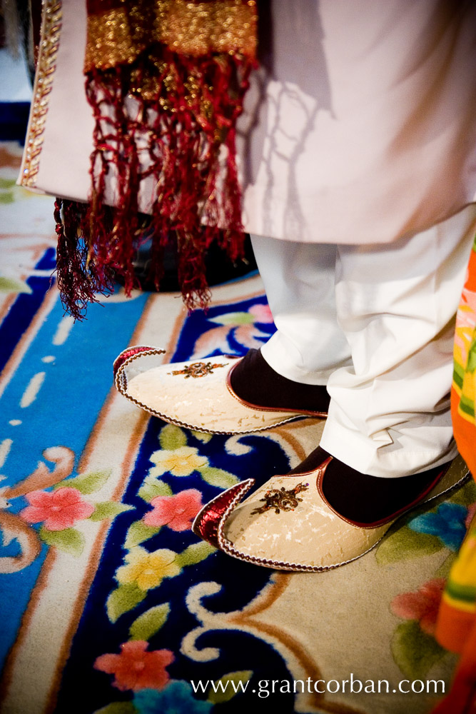
M 412 503 L 380 521 L 358 523 L 337 513 L 324 496 L 326 471 L 333 461 L 338 459 L 327 455 L 312 471 L 273 476 L 243 503 L 254 479 L 228 488 L 198 513 L 193 533 L 233 558 L 265 568 L 330 570 L 368 553 L 400 516 L 447 493 L 469 476 L 464 461 L 457 457 L 433 470 L 435 478 Z

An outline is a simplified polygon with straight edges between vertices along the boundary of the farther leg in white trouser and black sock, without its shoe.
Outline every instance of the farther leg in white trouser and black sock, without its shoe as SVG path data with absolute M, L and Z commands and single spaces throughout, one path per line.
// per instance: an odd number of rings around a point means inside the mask
M 233 391 L 260 406 L 326 413 L 325 384 L 351 363 L 335 308 L 337 248 L 261 236 L 252 242 L 278 331 L 236 366 Z

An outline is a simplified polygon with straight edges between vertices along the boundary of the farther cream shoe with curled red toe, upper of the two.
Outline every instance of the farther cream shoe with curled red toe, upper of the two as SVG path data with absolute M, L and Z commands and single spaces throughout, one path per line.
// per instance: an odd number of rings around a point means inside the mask
M 243 359 L 233 356 L 159 364 L 165 350 L 129 347 L 113 364 L 118 391 L 153 416 L 194 431 L 245 434 L 280 426 L 298 417 L 327 412 L 261 407 L 240 399 L 231 373 Z

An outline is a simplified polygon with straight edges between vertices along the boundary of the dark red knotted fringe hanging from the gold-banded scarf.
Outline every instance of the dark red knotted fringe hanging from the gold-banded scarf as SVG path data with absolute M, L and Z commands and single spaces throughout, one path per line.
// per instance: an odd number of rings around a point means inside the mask
M 160 46 L 131 66 L 88 75 L 86 94 L 95 117 L 91 201 L 63 201 L 62 218 L 61 201 L 55 204 L 59 289 L 75 318 L 83 317 L 96 293 L 111 291 L 113 272 L 122 277 L 127 295 L 136 285 L 138 196 L 149 177 L 156 288 L 171 235 L 189 309 L 205 307 L 210 298 L 210 243 L 217 241 L 233 261 L 243 255 L 235 141 L 252 65 L 240 56 L 197 59 Z M 111 185 L 112 200 L 106 191 Z

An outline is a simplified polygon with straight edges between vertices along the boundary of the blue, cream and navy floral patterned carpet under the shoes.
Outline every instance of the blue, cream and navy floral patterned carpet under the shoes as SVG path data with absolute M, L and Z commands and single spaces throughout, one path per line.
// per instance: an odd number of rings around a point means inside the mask
M 260 346 L 274 330 L 260 278 L 214 288 L 191 316 L 176 294 L 118 289 L 73 323 L 51 279 L 51 199 L 14 185 L 20 155 L 0 145 L 1 712 L 430 713 L 438 695 L 397 685 L 450 685 L 455 659 L 433 630 L 474 484 L 328 573 L 199 541 L 202 503 L 286 473 L 322 424 L 186 431 L 118 395 L 111 366 L 128 344 L 166 348 L 164 361 Z M 351 675 L 360 692 L 313 690 Z

